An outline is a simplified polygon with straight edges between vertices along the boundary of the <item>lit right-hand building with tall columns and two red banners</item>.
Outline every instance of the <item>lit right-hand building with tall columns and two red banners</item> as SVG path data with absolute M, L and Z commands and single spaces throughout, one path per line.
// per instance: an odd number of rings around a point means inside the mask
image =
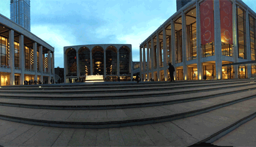
M 193 0 L 140 44 L 144 81 L 250 78 L 255 64 L 256 13 L 240 0 Z

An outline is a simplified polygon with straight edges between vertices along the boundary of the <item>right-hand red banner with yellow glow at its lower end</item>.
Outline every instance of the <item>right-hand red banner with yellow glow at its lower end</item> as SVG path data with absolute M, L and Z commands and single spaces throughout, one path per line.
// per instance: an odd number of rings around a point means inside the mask
M 232 2 L 219 1 L 221 11 L 221 42 L 233 44 Z

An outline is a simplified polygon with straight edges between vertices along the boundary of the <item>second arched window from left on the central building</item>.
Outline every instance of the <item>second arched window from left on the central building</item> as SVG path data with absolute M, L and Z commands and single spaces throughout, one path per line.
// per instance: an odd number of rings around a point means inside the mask
M 83 48 L 79 51 L 79 69 L 80 76 L 88 76 L 91 74 L 90 50 Z

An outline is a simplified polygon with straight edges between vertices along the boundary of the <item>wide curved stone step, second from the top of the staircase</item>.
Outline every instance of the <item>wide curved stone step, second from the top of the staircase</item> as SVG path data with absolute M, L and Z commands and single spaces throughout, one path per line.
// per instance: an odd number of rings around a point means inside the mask
M 0 92 L 2 94 L 6 93 L 19 93 L 19 94 L 108 94 L 108 93 L 120 93 L 120 92 L 145 92 L 145 91 L 166 91 L 170 89 L 187 89 L 187 88 L 194 88 L 194 87 L 214 87 L 220 85 L 237 85 L 237 84 L 247 84 L 247 83 L 255 83 L 256 80 L 251 81 L 232 81 L 232 82 L 225 82 L 225 83 L 205 83 L 205 84 L 194 84 L 194 85 L 169 85 L 168 87 L 149 87 L 149 88 L 122 88 L 122 89 L 100 89 L 92 87 L 92 89 L 55 89 L 55 90 L 48 90 L 45 88 L 42 89 L 1 89 Z

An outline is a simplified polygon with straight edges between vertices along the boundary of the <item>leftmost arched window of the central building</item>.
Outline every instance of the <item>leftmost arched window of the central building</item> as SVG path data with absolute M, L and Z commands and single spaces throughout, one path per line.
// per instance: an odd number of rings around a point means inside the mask
M 67 52 L 67 74 L 68 76 L 77 76 L 76 70 L 76 50 L 71 49 Z

